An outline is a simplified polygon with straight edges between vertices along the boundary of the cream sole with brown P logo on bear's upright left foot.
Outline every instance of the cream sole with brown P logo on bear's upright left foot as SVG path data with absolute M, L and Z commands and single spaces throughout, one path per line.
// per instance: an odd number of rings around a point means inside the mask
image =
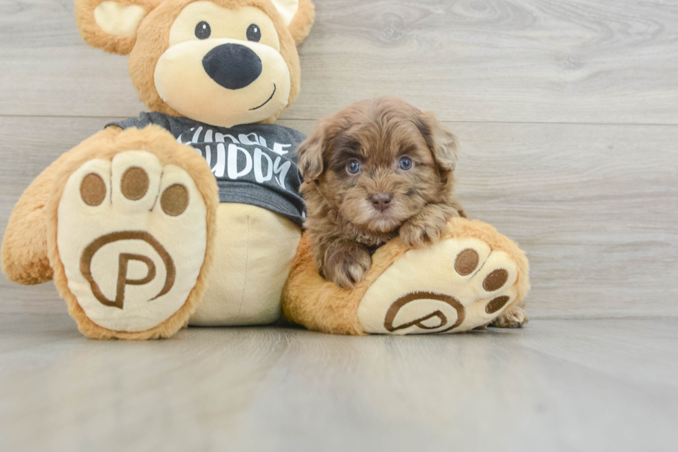
M 196 284 L 206 243 L 206 207 L 194 181 L 149 152 L 84 163 L 59 200 L 68 289 L 107 329 L 140 332 L 172 316 Z

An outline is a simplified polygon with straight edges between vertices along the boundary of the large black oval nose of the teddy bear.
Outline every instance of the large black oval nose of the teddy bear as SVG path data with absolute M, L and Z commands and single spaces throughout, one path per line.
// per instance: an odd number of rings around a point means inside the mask
M 203 68 L 222 87 L 241 89 L 261 75 L 262 59 L 247 46 L 221 44 L 205 55 Z

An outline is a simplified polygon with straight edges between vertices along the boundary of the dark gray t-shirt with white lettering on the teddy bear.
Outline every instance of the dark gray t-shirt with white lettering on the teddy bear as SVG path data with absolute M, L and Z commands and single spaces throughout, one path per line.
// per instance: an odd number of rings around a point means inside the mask
M 295 151 L 306 136 L 275 124 L 215 127 L 163 113 L 141 113 L 106 125 L 143 129 L 159 125 L 199 152 L 217 177 L 219 201 L 252 204 L 302 225 L 306 217 Z

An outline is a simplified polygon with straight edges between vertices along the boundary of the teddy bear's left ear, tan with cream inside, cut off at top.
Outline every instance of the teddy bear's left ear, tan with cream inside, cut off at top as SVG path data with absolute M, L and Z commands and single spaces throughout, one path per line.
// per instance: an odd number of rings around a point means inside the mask
M 75 23 L 90 46 L 127 55 L 142 19 L 162 0 L 75 0 Z

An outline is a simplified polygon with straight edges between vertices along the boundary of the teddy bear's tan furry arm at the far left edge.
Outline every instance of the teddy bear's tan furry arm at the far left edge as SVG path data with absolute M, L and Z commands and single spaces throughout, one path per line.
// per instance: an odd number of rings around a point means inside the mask
M 107 141 L 120 133 L 119 127 L 106 129 L 87 138 Z M 47 218 L 44 207 L 52 192 L 52 181 L 62 163 L 82 146 L 62 154 L 26 188 L 7 223 L 2 240 L 1 262 L 8 280 L 19 284 L 40 284 L 52 279 L 47 248 Z

